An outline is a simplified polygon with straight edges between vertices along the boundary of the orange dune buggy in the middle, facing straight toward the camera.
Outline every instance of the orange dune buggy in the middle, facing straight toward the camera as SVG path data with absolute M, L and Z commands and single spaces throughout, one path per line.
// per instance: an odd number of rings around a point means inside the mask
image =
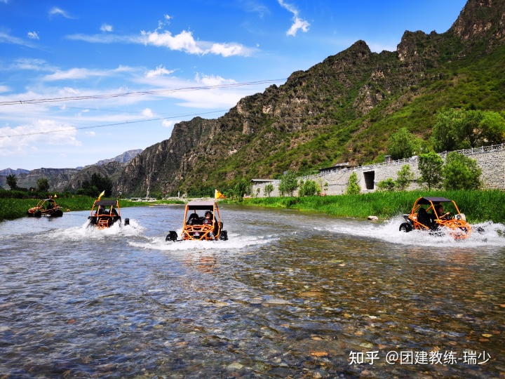
M 208 215 L 208 217 L 206 217 Z M 182 239 L 177 239 L 177 232 L 170 230 L 165 241 L 214 241 L 228 239 L 228 232 L 222 230 L 223 223 L 215 201 L 189 201 L 184 210 Z

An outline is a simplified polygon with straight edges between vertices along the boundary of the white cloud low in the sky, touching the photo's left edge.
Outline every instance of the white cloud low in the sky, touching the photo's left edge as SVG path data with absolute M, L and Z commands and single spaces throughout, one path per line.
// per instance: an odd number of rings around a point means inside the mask
M 41 144 L 79 146 L 81 142 L 76 139 L 76 133 L 73 126 L 48 119 L 39 119 L 15 128 L 0 128 L 0 155 L 24 155 L 27 149 L 36 149 Z

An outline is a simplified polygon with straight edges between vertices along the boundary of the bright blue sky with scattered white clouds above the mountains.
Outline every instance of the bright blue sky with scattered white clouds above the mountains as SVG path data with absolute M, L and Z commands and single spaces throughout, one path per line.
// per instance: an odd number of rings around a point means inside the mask
M 0 0 L 0 170 L 145 149 L 364 40 L 450 28 L 464 0 Z

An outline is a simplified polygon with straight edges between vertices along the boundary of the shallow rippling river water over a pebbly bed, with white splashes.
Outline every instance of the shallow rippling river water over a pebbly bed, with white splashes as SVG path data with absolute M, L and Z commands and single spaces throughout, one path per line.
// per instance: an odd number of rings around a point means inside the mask
M 0 378 L 505 378 L 504 225 L 466 241 L 222 206 L 0 222 Z

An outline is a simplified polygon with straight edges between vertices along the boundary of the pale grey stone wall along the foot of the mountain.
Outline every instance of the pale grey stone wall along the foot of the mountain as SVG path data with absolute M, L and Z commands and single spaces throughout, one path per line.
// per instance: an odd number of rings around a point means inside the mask
M 459 150 L 460 153 L 476 159 L 478 166 L 482 168 L 483 173 L 481 180 L 483 180 L 483 187 L 485 189 L 505 189 L 505 145 L 493 145 L 486 147 L 479 147 L 478 149 Z M 440 154 L 445 159 L 446 153 Z M 356 171 L 358 180 L 361 185 L 361 192 L 374 192 L 377 189 L 377 183 L 381 180 L 392 178 L 396 180 L 398 171 L 405 165 L 410 165 L 410 170 L 414 173 L 414 178 L 419 178 L 420 173 L 417 169 L 417 157 L 409 159 L 400 159 L 398 161 L 390 161 L 388 163 L 370 164 L 368 166 L 360 166 L 356 168 L 344 168 L 342 170 L 335 170 L 331 173 L 319 173 L 316 175 L 308 175 L 299 179 L 314 180 L 324 187 L 328 183 L 328 190 L 326 194 L 337 195 L 344 194 L 349 184 L 349 176 L 353 171 Z M 270 194 L 272 197 L 281 196 L 278 192 L 278 185 L 280 180 L 272 180 L 270 184 L 274 185 L 274 192 Z M 269 183 L 254 184 L 253 194 L 255 197 L 265 197 L 264 186 Z M 417 180 L 412 180 L 408 189 L 418 189 L 420 185 Z M 260 189 L 258 193 L 257 190 Z M 323 190 L 324 192 L 324 190 Z M 297 192 L 295 192 L 297 196 Z

